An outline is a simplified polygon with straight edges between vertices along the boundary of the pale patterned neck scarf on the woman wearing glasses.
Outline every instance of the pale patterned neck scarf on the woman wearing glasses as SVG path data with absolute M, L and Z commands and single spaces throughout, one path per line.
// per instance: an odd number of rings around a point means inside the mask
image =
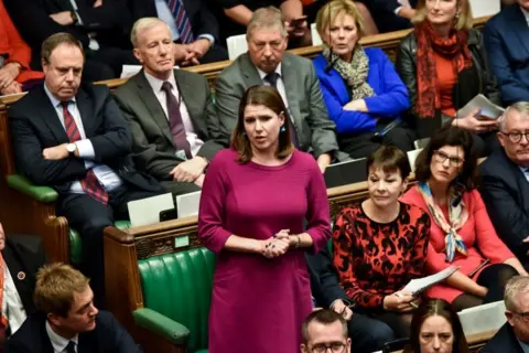
M 461 236 L 457 234 L 457 231 L 463 227 L 463 225 L 468 220 L 468 210 L 465 202 L 463 201 L 464 186 L 456 184 L 450 189 L 449 196 L 449 217 L 450 223 L 446 222 L 444 213 L 435 203 L 432 196 L 432 191 L 425 182 L 420 182 L 417 185 L 419 192 L 422 195 L 422 199 L 427 203 L 428 210 L 430 211 L 433 221 L 438 226 L 443 229 L 446 234 L 444 237 L 444 245 L 446 252 L 446 260 L 452 263 L 455 257 L 455 252 L 461 253 L 466 256 L 466 246 Z

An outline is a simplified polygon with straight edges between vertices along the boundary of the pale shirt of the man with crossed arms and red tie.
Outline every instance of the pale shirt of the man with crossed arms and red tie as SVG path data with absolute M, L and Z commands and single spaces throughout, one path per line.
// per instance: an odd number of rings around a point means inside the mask
M 50 89 L 47 89 L 47 86 L 45 84 L 44 90 L 46 92 L 50 101 L 55 108 L 58 120 L 64 128 L 63 105 L 61 100 L 53 96 L 53 94 L 50 92 Z M 94 162 L 94 159 L 96 158 L 96 152 L 94 151 L 94 146 L 91 145 L 91 141 L 86 138 L 85 128 L 83 126 L 83 120 L 80 119 L 80 113 L 77 108 L 75 97 L 72 98 L 72 100 L 68 103 L 68 111 L 74 117 L 75 124 L 77 125 L 77 129 L 80 133 L 82 139 L 76 141 L 75 145 L 77 146 L 77 150 L 79 151 L 79 158 L 85 160 L 85 168 L 91 169 L 94 171 L 97 180 L 105 188 L 106 191 L 111 191 L 121 185 L 121 179 L 110 168 L 105 164 L 97 164 L 96 162 Z M 85 193 L 79 181 L 73 182 L 69 191 L 76 194 Z

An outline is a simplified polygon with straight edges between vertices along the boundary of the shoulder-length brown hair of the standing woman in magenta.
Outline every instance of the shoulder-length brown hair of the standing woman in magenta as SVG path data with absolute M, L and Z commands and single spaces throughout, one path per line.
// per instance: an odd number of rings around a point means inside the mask
M 289 157 L 294 146 L 290 137 L 290 117 L 284 106 L 283 98 L 278 90 L 271 86 L 252 86 L 246 89 L 239 104 L 239 117 L 237 119 L 237 126 L 231 133 L 231 148 L 239 153 L 238 161 L 240 163 L 248 163 L 253 156 L 251 151 L 250 140 L 245 130 L 245 109 L 247 106 L 264 106 L 280 115 L 284 115 L 284 131 L 279 133 L 279 145 L 276 156 L 279 159 Z

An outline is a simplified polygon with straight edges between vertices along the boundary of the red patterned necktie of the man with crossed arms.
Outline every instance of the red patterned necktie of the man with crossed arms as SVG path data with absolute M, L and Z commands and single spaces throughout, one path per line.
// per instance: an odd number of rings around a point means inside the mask
M 68 101 L 62 101 L 61 104 L 63 105 L 64 128 L 66 129 L 69 142 L 80 140 L 80 132 L 77 128 L 77 124 L 75 124 L 75 119 L 68 110 Z M 80 180 L 80 186 L 88 196 L 105 205 L 108 203 L 108 194 L 91 169 L 89 169 L 86 172 L 85 178 Z

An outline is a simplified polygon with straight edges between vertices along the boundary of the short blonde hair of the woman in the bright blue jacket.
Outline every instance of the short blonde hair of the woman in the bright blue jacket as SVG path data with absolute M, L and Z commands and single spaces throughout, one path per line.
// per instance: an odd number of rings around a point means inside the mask
M 356 22 L 359 38 L 364 35 L 364 19 L 355 2 L 352 0 L 333 0 L 317 11 L 316 30 L 322 39 L 324 38 L 325 29 L 330 26 L 341 13 L 350 15 Z

